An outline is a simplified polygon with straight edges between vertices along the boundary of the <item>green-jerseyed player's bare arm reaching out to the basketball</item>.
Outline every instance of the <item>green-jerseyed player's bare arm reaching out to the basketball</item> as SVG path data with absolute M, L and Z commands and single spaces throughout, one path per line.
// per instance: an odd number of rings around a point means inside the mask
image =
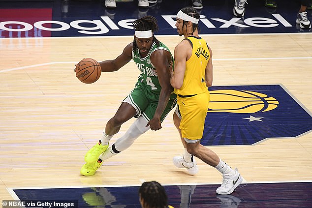
M 113 60 L 104 60 L 99 62 L 102 68 L 102 72 L 117 71 L 131 60 L 132 43 L 127 45 L 121 55 Z

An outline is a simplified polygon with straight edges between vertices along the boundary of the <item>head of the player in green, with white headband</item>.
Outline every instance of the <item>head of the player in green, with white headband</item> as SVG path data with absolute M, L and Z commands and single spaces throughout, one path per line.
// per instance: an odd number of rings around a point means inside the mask
M 153 16 L 145 16 L 135 20 L 132 25 L 135 30 L 132 50 L 139 50 L 143 58 L 149 53 L 154 42 L 159 46 L 159 41 L 154 36 L 158 31 L 157 20 Z

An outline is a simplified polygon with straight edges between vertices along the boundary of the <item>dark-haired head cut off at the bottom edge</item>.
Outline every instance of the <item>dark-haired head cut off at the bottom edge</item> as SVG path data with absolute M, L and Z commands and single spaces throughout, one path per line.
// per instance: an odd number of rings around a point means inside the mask
M 164 187 L 156 182 L 144 182 L 139 188 L 139 197 L 143 199 L 144 208 L 166 208 L 168 197 Z

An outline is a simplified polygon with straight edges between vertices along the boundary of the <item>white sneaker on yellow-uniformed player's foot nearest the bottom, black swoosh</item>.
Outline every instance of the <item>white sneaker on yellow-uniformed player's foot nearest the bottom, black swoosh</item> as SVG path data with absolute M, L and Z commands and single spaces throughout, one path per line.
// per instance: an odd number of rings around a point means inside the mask
M 216 190 L 217 194 L 220 194 L 220 195 L 231 194 L 235 190 L 235 188 L 239 184 L 241 184 L 241 182 L 243 181 L 243 177 L 241 177 L 237 168 L 235 168 L 234 171 L 235 171 L 234 175 L 229 175 L 229 174 L 223 175 L 222 184 Z

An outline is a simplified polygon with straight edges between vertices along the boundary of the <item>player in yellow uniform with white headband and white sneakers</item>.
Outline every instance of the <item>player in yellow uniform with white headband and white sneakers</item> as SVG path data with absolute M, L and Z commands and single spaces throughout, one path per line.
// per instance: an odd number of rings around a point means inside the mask
M 177 94 L 178 109 L 174 123 L 185 147 L 183 157 L 174 157 L 173 163 L 186 168 L 189 174 L 196 174 L 198 168 L 193 158 L 198 157 L 215 167 L 223 176 L 222 184 L 216 192 L 231 194 L 243 181 L 238 170 L 233 170 L 212 150 L 200 144 L 209 104 L 208 87 L 212 85 L 212 50 L 198 35 L 199 14 L 196 9 L 187 7 L 177 14 L 176 27 L 182 40 L 174 50 L 175 67 L 171 70 L 170 83 Z

